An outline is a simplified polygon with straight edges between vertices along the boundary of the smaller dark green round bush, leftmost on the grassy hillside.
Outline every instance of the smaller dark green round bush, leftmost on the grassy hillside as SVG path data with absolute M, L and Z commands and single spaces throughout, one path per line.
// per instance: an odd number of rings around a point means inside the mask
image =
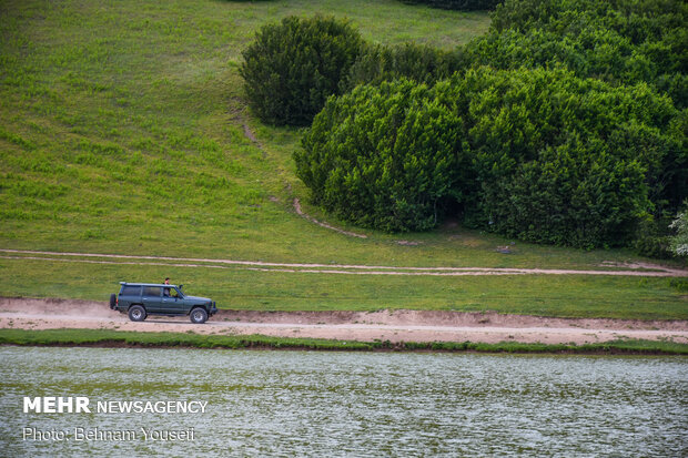
M 264 26 L 243 52 L 240 73 L 256 115 L 273 124 L 308 124 L 361 52 L 348 22 L 316 16 Z

